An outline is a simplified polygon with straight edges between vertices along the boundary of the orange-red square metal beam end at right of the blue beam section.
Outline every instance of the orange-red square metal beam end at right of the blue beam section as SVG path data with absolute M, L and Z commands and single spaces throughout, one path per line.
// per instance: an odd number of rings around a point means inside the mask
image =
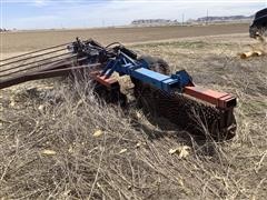
M 210 89 L 204 89 L 200 87 L 185 87 L 186 94 L 196 99 L 209 102 L 221 109 L 229 109 L 236 107 L 236 98 L 226 92 L 218 92 Z

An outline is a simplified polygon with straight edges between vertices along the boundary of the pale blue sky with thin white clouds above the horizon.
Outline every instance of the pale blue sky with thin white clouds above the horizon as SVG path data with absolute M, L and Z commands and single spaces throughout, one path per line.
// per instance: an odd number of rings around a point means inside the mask
M 251 16 L 267 0 L 0 0 L 7 29 L 88 28 L 129 24 L 135 19 L 185 20 Z

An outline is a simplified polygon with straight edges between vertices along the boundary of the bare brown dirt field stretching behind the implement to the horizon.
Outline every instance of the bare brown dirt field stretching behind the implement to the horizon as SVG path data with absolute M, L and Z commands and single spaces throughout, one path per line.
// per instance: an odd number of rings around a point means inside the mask
M 108 28 L 1 33 L 0 53 L 24 52 L 73 41 L 76 37 L 93 38 L 103 44 L 158 41 L 196 36 L 248 32 L 248 24 L 210 24 L 202 27 Z

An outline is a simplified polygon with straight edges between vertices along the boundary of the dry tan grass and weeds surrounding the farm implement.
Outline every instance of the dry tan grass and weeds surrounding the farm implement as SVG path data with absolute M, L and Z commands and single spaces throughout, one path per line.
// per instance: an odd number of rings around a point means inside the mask
M 118 33 L 100 42 L 128 42 L 139 54 L 165 59 L 172 71 L 186 69 L 197 84 L 235 94 L 236 137 L 219 143 L 198 141 L 165 119 L 152 123 L 135 107 L 126 87 L 132 101 L 127 111 L 99 102 L 91 90 L 86 94 L 85 86 L 68 80 L 27 82 L 0 94 L 0 197 L 266 199 L 266 57 L 237 56 L 249 50 L 248 44 L 257 46 L 247 33 L 160 38 L 166 33 L 161 29 L 162 36 L 149 37 L 161 39 L 157 42 L 140 39 L 142 33 L 136 41 Z M 2 53 L 53 43 L 56 39 L 48 40 L 47 34 L 19 40 L 11 33 L 7 38 L 16 42 Z M 44 44 L 27 44 L 29 40 Z M 121 81 L 130 87 L 129 79 Z M 184 151 L 169 153 L 177 148 Z

